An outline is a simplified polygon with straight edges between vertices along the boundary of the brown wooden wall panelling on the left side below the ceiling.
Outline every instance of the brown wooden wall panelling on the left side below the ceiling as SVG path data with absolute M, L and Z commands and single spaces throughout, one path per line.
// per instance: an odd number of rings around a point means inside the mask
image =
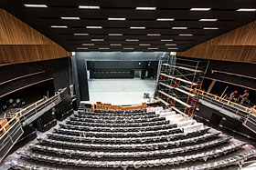
M 45 35 L 0 9 L 0 65 L 70 56 Z

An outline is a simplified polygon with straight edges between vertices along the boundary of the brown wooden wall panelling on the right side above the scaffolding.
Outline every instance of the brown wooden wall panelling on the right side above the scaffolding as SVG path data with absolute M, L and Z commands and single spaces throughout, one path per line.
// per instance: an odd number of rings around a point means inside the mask
M 256 63 L 256 21 L 176 55 Z

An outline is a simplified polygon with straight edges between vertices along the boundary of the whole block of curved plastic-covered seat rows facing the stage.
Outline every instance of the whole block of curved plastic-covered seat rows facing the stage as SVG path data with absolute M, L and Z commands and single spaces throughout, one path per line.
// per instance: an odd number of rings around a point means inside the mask
M 255 152 L 243 151 L 246 143 L 233 140 L 163 107 L 96 113 L 81 107 L 48 132 L 47 137 L 38 137 L 36 144 L 29 145 L 30 151 L 17 155 L 28 163 L 36 161 L 56 168 L 195 170 L 234 165 Z M 221 162 L 222 156 L 225 159 Z M 37 169 L 27 162 L 13 163 L 13 167 Z

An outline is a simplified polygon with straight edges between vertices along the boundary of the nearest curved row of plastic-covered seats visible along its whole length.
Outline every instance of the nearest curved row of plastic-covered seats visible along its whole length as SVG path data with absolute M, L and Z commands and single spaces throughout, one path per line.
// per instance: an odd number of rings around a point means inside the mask
M 81 159 L 67 159 L 67 158 L 58 158 L 55 156 L 48 155 L 39 155 L 31 153 L 16 153 L 22 158 L 40 161 L 48 164 L 58 164 L 58 165 L 75 165 L 83 167 L 111 167 L 117 168 L 122 167 L 126 169 L 127 167 L 140 168 L 140 167 L 153 167 L 161 165 L 181 165 L 191 161 L 203 160 L 207 161 L 208 158 L 218 157 L 220 155 L 227 155 L 235 150 L 238 150 L 241 147 L 240 144 L 234 144 L 229 146 L 224 146 L 221 149 L 214 149 L 208 152 L 203 152 L 195 155 L 184 155 L 176 156 L 172 158 L 162 158 L 162 159 L 153 159 L 153 160 L 141 160 L 141 161 L 88 161 Z

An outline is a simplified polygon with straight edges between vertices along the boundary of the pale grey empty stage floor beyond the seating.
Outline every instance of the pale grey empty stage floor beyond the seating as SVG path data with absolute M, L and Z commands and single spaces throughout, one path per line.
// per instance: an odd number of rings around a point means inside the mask
M 144 93 L 154 94 L 154 79 L 91 79 L 89 80 L 90 103 L 112 105 L 137 105 L 148 102 Z

